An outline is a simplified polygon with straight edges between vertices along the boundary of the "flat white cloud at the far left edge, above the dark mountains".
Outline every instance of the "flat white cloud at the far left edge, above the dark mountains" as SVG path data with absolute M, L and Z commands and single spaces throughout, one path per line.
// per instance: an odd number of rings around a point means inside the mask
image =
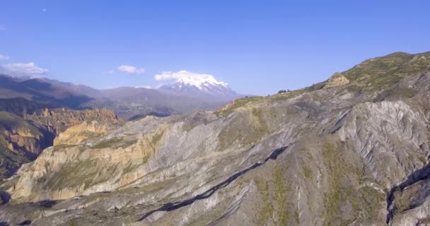
M 47 72 L 48 69 L 42 69 L 36 66 L 33 62 L 27 64 L 4 64 L 0 66 L 0 73 L 5 73 L 11 76 L 42 76 Z

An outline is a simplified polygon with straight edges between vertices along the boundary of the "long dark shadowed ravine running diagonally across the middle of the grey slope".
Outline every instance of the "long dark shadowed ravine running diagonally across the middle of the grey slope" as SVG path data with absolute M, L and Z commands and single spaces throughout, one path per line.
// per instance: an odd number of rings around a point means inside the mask
M 243 174 L 245 174 L 246 172 L 250 171 L 251 169 L 255 169 L 257 167 L 260 167 L 261 165 L 265 164 L 265 162 L 267 162 L 268 160 L 276 160 L 277 157 L 279 155 L 281 155 L 281 153 L 284 153 L 284 150 L 286 150 L 286 148 L 288 148 L 288 146 L 282 147 L 282 148 L 278 148 L 278 149 L 274 150 L 272 152 L 272 154 L 269 155 L 269 157 L 267 157 L 263 162 L 257 162 L 254 165 L 252 165 L 252 166 L 250 166 L 250 167 L 248 167 L 246 169 L 243 169 L 243 170 L 237 172 L 236 174 L 231 175 L 225 181 L 221 182 L 220 184 L 217 184 L 216 186 L 211 187 L 211 189 L 208 189 L 207 191 L 204 191 L 204 193 L 202 193 L 202 194 L 198 194 L 197 196 L 194 196 L 192 198 L 189 198 L 189 199 L 187 199 L 185 201 L 181 201 L 181 202 L 165 203 L 160 208 L 158 208 L 156 210 L 151 210 L 148 213 L 145 213 L 138 221 L 144 220 L 144 219 L 148 218 L 151 214 L 156 213 L 158 211 L 167 211 L 167 212 L 170 212 L 170 211 L 176 210 L 178 208 L 191 205 L 195 201 L 202 200 L 202 199 L 205 199 L 205 198 L 209 198 L 216 191 L 218 191 L 219 189 L 222 189 L 222 188 L 226 187 L 228 184 L 230 184 L 231 182 L 235 181 L 236 179 L 238 179 L 238 177 L 242 176 Z

